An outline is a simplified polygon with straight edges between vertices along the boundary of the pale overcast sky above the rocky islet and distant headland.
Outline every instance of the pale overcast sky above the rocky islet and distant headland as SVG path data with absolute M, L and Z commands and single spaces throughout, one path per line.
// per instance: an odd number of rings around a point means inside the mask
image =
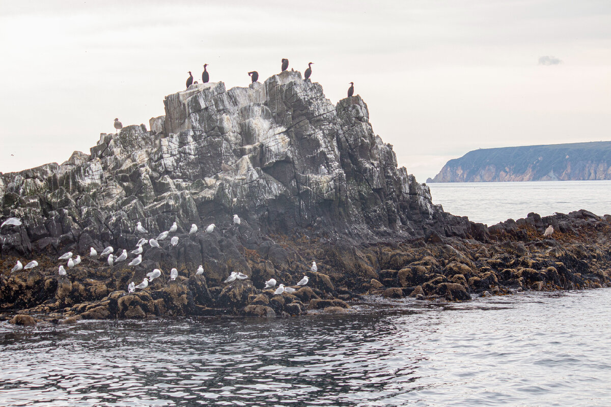
M 197 78 L 348 82 L 418 181 L 472 149 L 611 140 L 611 1 L 0 0 L 0 171 L 89 153 Z

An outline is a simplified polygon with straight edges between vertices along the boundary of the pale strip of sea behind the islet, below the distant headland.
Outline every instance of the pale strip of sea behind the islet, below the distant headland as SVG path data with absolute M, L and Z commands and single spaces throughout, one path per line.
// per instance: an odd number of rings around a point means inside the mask
M 433 203 L 444 211 L 488 226 L 525 218 L 587 209 L 611 214 L 611 181 L 442 182 L 427 184 Z M 611 404 L 611 403 L 610 403 Z

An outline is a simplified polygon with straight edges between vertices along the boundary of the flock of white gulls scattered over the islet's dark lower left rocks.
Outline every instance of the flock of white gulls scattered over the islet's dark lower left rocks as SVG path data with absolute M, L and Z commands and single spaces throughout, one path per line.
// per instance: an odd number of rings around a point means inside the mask
M 242 221 L 238 215 L 233 215 L 233 224 L 234 225 L 240 225 L 241 222 Z M 19 218 L 9 218 L 5 220 L 5 222 L 2 223 L 0 227 L 4 227 L 5 225 L 21 226 L 21 220 Z M 212 233 L 215 227 L 216 226 L 214 225 L 214 223 L 211 223 L 206 228 L 206 232 Z M 178 225 L 176 222 L 174 222 L 167 231 L 161 232 L 159 236 L 156 237 L 156 239 L 152 238 L 152 239 L 147 240 L 145 237 L 142 237 L 136 243 L 136 249 L 131 250 L 129 252 L 130 254 L 134 254 L 136 257 L 133 258 L 128 263 L 128 265 L 137 266 L 142 263 L 142 251 L 143 251 L 142 247 L 144 245 L 148 243 L 150 247 L 153 247 L 153 248 L 160 247 L 159 240 L 167 239 L 170 236 L 170 233 L 176 232 L 177 230 L 178 230 Z M 148 234 L 147 229 L 145 229 L 144 226 L 142 226 L 142 222 L 138 222 L 136 224 L 136 232 L 139 232 L 141 234 Z M 189 229 L 189 234 L 191 235 L 196 232 L 197 232 L 197 225 L 193 223 L 191 225 L 191 229 Z M 178 244 L 178 236 L 172 236 L 170 238 L 170 244 L 172 245 L 172 247 L 176 246 Z M 114 253 L 114 248 L 112 246 L 104 248 L 104 250 L 99 255 L 98 255 L 97 250 L 95 250 L 95 248 L 93 247 L 89 248 L 89 257 L 90 258 L 103 258 L 105 256 L 108 256 L 106 258 L 106 262 L 108 262 L 109 266 L 125 261 L 128 258 L 128 251 L 125 249 L 123 249 L 123 251 L 121 252 L 121 254 L 119 254 L 119 256 L 115 256 L 113 253 Z M 79 256 L 78 254 L 76 255 L 75 258 L 73 258 L 73 256 L 74 256 L 74 253 L 72 253 L 71 251 L 68 251 L 67 253 L 64 253 L 61 256 L 59 256 L 58 260 L 66 261 L 66 267 L 70 269 L 70 268 L 73 268 L 81 264 L 81 256 Z M 35 260 L 32 260 L 31 262 L 27 263 L 26 265 L 21 264 L 21 261 L 18 260 L 15 266 L 10 271 L 17 272 L 19 270 L 27 270 L 29 268 L 37 267 L 37 265 L 38 265 L 38 262 Z M 310 270 L 313 272 L 316 272 L 318 270 L 318 268 L 316 267 L 316 262 L 312 262 L 312 267 L 310 268 Z M 67 275 L 67 271 L 64 268 L 64 264 L 59 265 L 59 269 L 57 270 L 57 272 L 59 273 L 60 276 Z M 197 268 L 196 275 L 202 275 L 202 274 L 203 274 L 203 266 L 200 264 L 199 267 Z M 135 292 L 136 289 L 141 289 L 141 290 L 145 289 L 146 287 L 148 287 L 148 283 L 150 283 L 151 281 L 153 281 L 154 279 L 160 276 L 161 276 L 161 270 L 159 270 L 159 268 L 155 268 L 155 270 L 153 270 L 152 272 L 147 273 L 147 276 L 142 280 L 142 283 L 136 285 L 136 283 L 132 281 L 130 284 L 128 284 L 127 291 L 132 293 L 132 292 Z M 174 281 L 177 277 L 178 277 L 178 270 L 176 268 L 172 268 L 172 270 L 170 271 L 170 281 Z M 245 275 L 244 273 L 232 272 L 229 275 L 229 277 L 227 277 L 227 279 L 223 281 L 223 283 L 233 283 L 233 281 L 244 280 L 247 278 L 248 276 Z M 309 281 L 308 276 L 304 275 L 301 281 L 299 281 L 299 283 L 297 283 L 296 285 L 305 286 L 308 283 L 308 281 Z M 265 290 L 265 289 L 271 289 L 273 287 L 276 287 L 276 283 L 277 283 L 276 279 L 271 278 L 265 282 L 265 287 L 263 287 L 263 289 Z M 285 287 L 284 284 L 279 284 L 277 289 L 274 291 L 274 294 L 282 294 L 284 292 L 287 292 L 287 293 L 295 292 L 295 289 L 292 287 Z

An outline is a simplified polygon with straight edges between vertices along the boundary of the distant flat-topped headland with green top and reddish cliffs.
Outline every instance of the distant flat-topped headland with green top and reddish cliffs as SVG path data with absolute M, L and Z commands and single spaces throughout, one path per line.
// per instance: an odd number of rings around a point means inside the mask
M 611 179 L 611 142 L 480 148 L 449 160 L 426 182 Z

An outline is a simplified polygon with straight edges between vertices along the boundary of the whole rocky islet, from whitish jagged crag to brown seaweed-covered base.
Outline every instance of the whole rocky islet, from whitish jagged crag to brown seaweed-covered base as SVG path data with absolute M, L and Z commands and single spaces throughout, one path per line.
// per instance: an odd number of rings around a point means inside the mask
M 398 167 L 360 96 L 334 105 L 320 84 L 284 71 L 246 88 L 191 85 L 164 105 L 150 130 L 126 126 L 90 154 L 0 175 L 0 222 L 21 220 L 0 229 L 2 319 L 341 313 L 363 295 L 463 301 L 611 283 L 609 215 L 529 214 L 488 228 L 448 214 Z M 174 223 L 159 247 L 142 245 L 139 265 L 128 265 L 134 254 L 112 265 L 89 256 L 129 253 Z M 59 275 L 67 251 L 82 261 Z M 38 265 L 11 272 L 18 260 Z M 127 292 L 155 268 L 159 278 Z M 248 278 L 224 283 L 231 273 Z M 263 289 L 271 278 L 295 291 Z

